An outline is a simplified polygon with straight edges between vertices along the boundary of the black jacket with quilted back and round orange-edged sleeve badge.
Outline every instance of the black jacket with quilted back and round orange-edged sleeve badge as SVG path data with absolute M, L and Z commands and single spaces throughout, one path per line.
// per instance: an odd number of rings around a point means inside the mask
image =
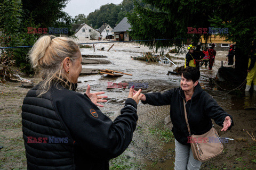
M 111 121 L 89 97 L 60 84 L 37 97 L 32 88 L 22 105 L 27 169 L 109 169 L 109 159 L 129 146 L 138 120 L 128 98 Z

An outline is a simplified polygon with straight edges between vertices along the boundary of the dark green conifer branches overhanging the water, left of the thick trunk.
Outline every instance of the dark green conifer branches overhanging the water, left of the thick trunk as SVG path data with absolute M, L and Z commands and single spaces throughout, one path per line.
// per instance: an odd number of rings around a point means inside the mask
M 143 7 L 142 3 L 145 3 L 143 5 L 146 7 Z M 134 12 L 127 14 L 132 26 L 130 35 L 133 39 L 175 39 L 142 42 L 150 48 L 156 48 L 156 50 L 170 46 L 181 48 L 183 44 L 188 43 L 188 40 L 199 42 L 201 35 L 188 34 L 187 27 L 210 27 L 207 17 L 211 6 L 207 2 L 145 0 L 142 3 L 134 1 Z M 209 37 L 209 35 L 204 36 Z

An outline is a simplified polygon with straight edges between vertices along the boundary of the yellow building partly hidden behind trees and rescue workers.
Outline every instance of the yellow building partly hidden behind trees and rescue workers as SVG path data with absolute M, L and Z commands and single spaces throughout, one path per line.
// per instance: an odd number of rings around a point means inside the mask
M 205 43 L 205 39 L 203 36 L 201 37 L 201 44 Z M 207 40 L 207 47 L 211 47 L 211 44 L 216 44 L 215 50 L 227 50 L 229 49 L 231 44 L 236 44 L 231 41 L 225 41 L 225 38 L 221 38 L 220 36 L 214 37 L 214 35 L 211 35 L 211 37 Z

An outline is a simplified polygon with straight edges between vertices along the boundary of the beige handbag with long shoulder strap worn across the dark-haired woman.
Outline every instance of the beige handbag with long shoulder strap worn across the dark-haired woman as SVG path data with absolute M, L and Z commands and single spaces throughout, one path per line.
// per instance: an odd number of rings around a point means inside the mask
M 188 124 L 185 100 L 183 100 L 183 105 L 184 105 L 185 118 L 186 118 L 188 132 L 189 132 L 188 142 L 190 141 L 191 150 L 193 152 L 194 158 L 196 160 L 204 162 L 215 156 L 220 155 L 223 150 L 223 145 L 221 143 L 221 140 L 215 128 L 212 127 L 210 131 L 201 135 L 194 135 L 194 134 L 191 135 L 189 124 Z

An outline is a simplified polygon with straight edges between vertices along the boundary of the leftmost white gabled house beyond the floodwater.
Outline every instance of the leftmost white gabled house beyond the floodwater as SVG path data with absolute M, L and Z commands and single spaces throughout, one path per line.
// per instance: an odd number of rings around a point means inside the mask
M 87 25 L 86 23 L 73 24 L 73 27 L 71 30 L 75 31 L 75 36 L 79 40 L 90 40 L 90 39 L 100 40 L 101 38 L 100 32 L 95 30 L 91 26 Z

